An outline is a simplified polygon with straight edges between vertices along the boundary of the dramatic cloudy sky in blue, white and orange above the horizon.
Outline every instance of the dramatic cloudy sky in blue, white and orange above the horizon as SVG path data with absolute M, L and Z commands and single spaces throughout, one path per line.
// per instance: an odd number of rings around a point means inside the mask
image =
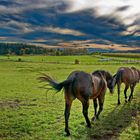
M 139 0 L 0 0 L 0 42 L 140 47 Z

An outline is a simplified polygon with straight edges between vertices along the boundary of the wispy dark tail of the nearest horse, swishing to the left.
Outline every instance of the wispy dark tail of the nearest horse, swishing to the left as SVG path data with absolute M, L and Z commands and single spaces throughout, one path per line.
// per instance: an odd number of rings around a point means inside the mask
M 61 89 L 72 82 L 72 80 L 65 80 L 63 82 L 57 83 L 54 79 L 52 79 L 49 75 L 43 74 L 38 78 L 40 82 L 48 82 L 48 84 L 55 89 L 57 92 L 61 91 Z

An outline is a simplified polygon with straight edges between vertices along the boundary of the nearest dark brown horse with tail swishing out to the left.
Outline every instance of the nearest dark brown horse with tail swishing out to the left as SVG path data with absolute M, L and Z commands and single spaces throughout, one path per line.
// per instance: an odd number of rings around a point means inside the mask
M 104 96 L 107 89 L 107 82 L 101 73 L 98 75 L 89 74 L 83 71 L 73 71 L 68 78 L 63 82 L 56 82 L 50 76 L 43 74 L 39 77 L 41 81 L 48 82 L 49 85 L 57 92 L 64 88 L 65 94 L 65 132 L 66 135 L 70 135 L 69 131 L 69 116 L 72 102 L 77 98 L 82 103 L 82 113 L 87 123 L 87 127 L 91 127 L 91 122 L 88 117 L 89 99 L 93 99 L 95 107 L 95 115 L 92 120 L 99 118 L 101 111 L 103 110 Z M 99 101 L 99 110 L 97 112 L 97 101 Z

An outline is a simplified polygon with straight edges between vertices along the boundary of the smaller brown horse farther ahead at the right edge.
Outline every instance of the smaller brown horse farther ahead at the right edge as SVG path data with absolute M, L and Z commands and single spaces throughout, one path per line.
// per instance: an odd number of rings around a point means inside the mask
M 117 85 L 118 88 L 118 105 L 120 104 L 120 88 L 121 84 L 125 84 L 124 96 L 125 102 L 127 102 L 127 90 L 130 87 L 131 93 L 129 95 L 128 101 L 133 98 L 133 92 L 136 84 L 140 81 L 140 71 L 135 67 L 120 67 L 117 73 L 113 76 L 114 80 L 112 82 L 112 86 L 115 87 Z

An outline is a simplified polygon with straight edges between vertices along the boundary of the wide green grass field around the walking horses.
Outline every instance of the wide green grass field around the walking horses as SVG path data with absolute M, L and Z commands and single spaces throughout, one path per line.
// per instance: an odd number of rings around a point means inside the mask
M 18 62 L 18 59 L 21 62 Z M 0 140 L 139 140 L 140 139 L 140 84 L 131 103 L 117 106 L 117 90 L 113 96 L 106 93 L 100 120 L 86 128 L 82 106 L 75 100 L 69 120 L 70 137 L 64 133 L 63 91 L 46 92 L 36 78 L 40 72 L 63 81 L 70 72 L 92 72 L 104 69 L 115 74 L 121 66 L 140 69 L 139 58 L 112 59 L 110 56 L 0 56 Z M 80 64 L 74 64 L 75 59 Z M 130 61 L 126 61 L 130 60 Z M 135 61 L 131 61 L 135 60 Z M 130 90 L 128 90 L 128 94 Z M 94 114 L 90 101 L 89 117 Z

